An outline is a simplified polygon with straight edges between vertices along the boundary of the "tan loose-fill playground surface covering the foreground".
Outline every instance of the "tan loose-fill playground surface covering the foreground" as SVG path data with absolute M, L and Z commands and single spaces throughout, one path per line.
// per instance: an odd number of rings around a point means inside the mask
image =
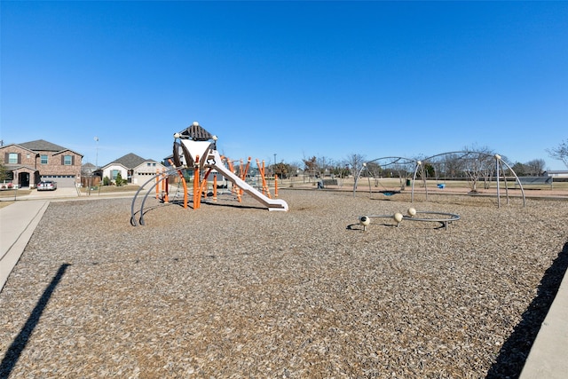
M 519 375 L 566 269 L 568 202 L 280 198 L 290 211 L 150 199 L 138 227 L 131 199 L 51 202 L 0 294 L 0 377 Z M 357 224 L 410 206 L 461 219 Z

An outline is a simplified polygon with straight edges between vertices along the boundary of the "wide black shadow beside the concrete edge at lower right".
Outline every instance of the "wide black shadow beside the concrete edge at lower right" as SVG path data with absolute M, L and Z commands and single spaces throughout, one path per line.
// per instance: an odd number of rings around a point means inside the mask
M 537 295 L 523 312 L 523 318 L 513 329 L 511 336 L 503 343 L 495 363 L 485 376 L 486 379 L 517 378 L 521 375 L 540 325 L 547 316 L 564 278 L 566 268 L 568 268 L 568 243 L 564 244 L 564 249 L 544 273 Z

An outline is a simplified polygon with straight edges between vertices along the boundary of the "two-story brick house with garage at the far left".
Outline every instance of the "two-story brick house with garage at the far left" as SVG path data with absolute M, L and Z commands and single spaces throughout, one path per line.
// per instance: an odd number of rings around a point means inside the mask
M 43 139 L 0 146 L 8 178 L 20 187 L 36 187 L 42 180 L 54 180 L 59 187 L 81 183 L 83 155 Z

